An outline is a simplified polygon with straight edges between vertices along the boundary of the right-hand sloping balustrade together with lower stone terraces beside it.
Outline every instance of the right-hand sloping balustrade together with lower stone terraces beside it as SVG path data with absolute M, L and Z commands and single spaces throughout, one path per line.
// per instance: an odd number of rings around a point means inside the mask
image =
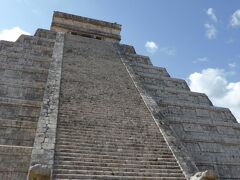
M 214 170 L 220 180 L 238 179 L 233 169 L 240 168 L 239 124 L 229 109 L 212 106 L 206 95 L 190 92 L 184 81 L 166 73 L 134 68 L 129 53 L 122 55 L 186 177 L 199 169 Z

